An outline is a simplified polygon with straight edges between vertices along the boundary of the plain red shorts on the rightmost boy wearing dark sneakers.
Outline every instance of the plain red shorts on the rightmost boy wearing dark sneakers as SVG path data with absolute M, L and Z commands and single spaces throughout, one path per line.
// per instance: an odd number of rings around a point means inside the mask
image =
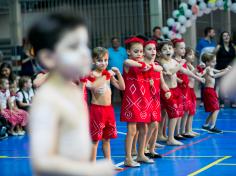
M 214 88 L 205 87 L 203 90 L 203 102 L 206 112 L 214 112 L 220 109 L 218 96 Z

